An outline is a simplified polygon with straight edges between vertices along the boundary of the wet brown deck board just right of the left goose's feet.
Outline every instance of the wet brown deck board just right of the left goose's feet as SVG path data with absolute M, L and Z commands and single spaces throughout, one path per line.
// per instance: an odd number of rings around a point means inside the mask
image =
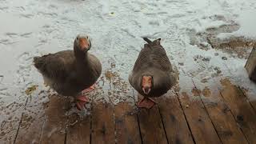
M 91 143 L 114 143 L 114 110 L 110 103 L 93 103 Z

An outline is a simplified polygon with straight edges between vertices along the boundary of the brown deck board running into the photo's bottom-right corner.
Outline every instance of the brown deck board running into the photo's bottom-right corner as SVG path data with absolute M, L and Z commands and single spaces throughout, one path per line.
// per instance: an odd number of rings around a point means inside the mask
M 247 98 L 237 86 L 231 84 L 227 79 L 221 81 L 221 94 L 226 104 L 230 107 L 234 118 L 242 129 L 243 134 L 250 143 L 256 143 L 256 114 Z

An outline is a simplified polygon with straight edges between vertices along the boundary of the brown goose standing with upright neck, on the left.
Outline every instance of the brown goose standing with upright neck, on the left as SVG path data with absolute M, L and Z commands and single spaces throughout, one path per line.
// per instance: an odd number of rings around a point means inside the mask
M 79 110 L 88 102 L 82 91 L 94 90 L 94 83 L 102 74 L 101 62 L 87 52 L 90 47 L 90 38 L 78 34 L 74 39 L 74 50 L 34 57 L 34 66 L 42 74 L 46 85 L 58 94 L 75 97 Z

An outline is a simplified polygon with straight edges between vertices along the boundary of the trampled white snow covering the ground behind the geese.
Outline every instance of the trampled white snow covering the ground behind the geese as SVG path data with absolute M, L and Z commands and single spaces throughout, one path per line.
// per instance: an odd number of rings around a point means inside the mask
M 29 86 L 38 85 L 34 96 L 45 90 L 33 57 L 73 49 L 79 33 L 92 39 L 90 53 L 102 61 L 103 76 L 111 70 L 127 83 L 145 43 L 141 37 L 162 38 L 180 74 L 203 81 L 220 70 L 221 77 L 230 78 L 254 97 L 256 86 L 243 68 L 246 58 L 191 45 L 194 37 L 189 33 L 234 25 L 237 31 L 219 31 L 216 37 L 256 38 L 255 14 L 255 0 L 0 0 L 0 107 L 24 103 Z M 203 40 L 201 44 L 210 46 Z

